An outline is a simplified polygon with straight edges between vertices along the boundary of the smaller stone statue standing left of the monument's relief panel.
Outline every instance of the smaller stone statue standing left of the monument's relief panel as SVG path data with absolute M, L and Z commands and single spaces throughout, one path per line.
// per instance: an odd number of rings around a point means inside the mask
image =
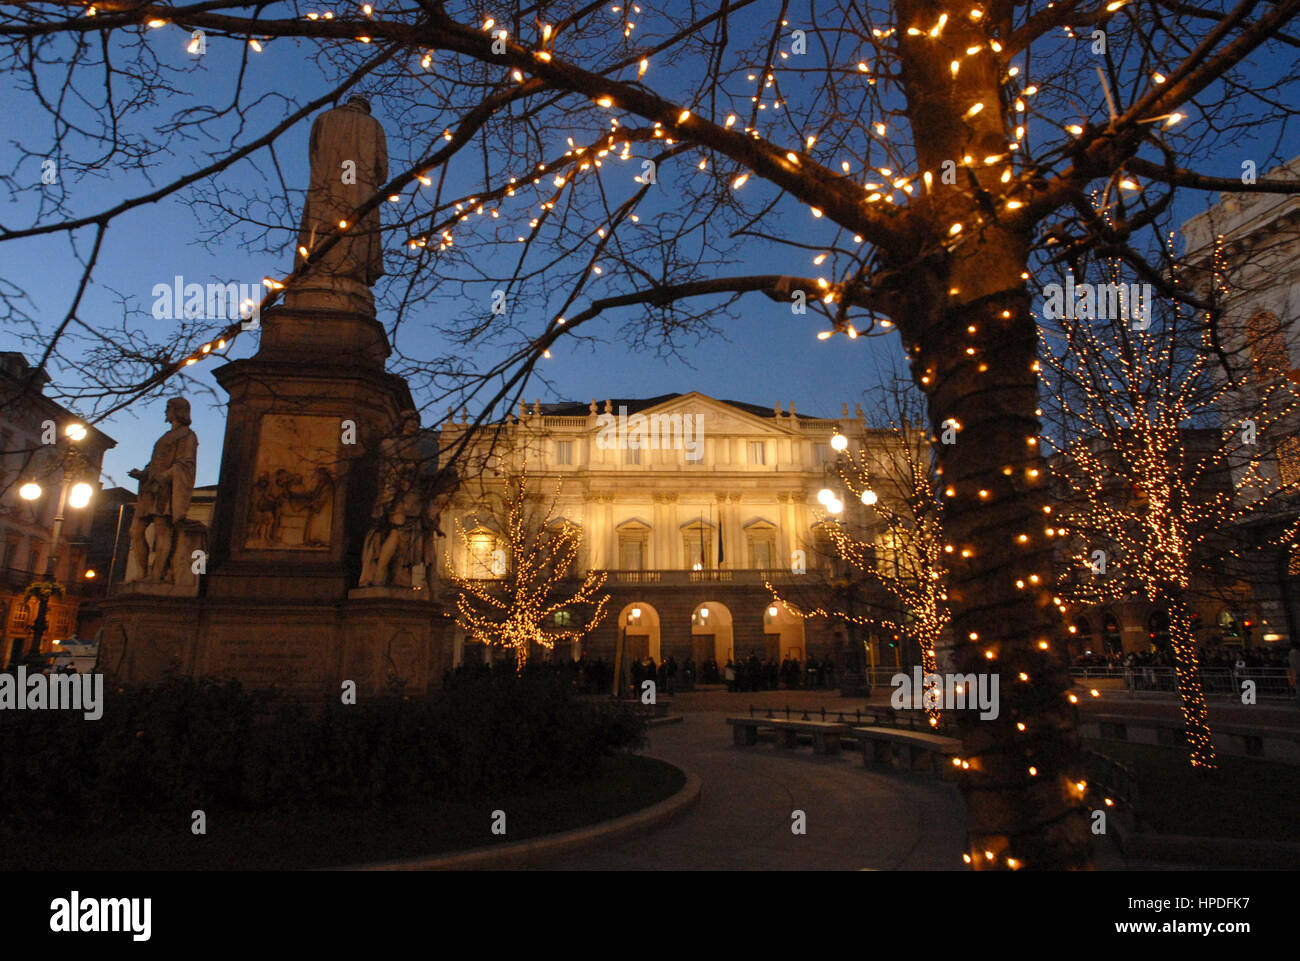
M 133 469 L 130 476 L 140 482 L 131 518 L 131 550 L 139 564 L 140 580 L 153 584 L 172 583 L 172 553 L 176 545 L 176 527 L 185 520 L 194 497 L 195 462 L 199 438 L 190 429 L 190 402 L 173 397 L 166 402 L 166 421 L 172 429 L 153 445 L 153 456 L 143 471 Z M 144 532 L 153 525 L 153 563 L 150 563 L 150 545 Z

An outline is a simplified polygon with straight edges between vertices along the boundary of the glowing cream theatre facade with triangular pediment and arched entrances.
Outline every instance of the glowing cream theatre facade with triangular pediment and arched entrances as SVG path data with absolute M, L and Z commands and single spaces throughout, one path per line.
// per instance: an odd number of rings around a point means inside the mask
M 835 560 L 820 533 L 823 489 L 840 495 L 845 523 L 872 523 L 874 511 L 845 492 L 837 464 L 863 451 L 880 456 L 894 434 L 867 428 L 861 407 L 853 415 L 846 404 L 841 410 L 837 419 L 814 417 L 793 404 L 764 408 L 699 393 L 521 403 L 498 430 L 473 441 L 467 463 L 486 468 L 463 475 L 442 514 L 443 599 L 454 593 L 448 566 L 463 576 L 493 576 L 504 537 L 499 507 L 489 505 L 500 503 L 506 476 L 526 458 L 540 514 L 554 501 L 552 523 L 581 531 L 576 567 L 607 572 L 603 592 L 611 596 L 603 622 L 558 657 L 612 661 L 621 635 L 628 655 L 656 662 L 670 654 L 697 666 L 792 655 L 831 658 L 846 670 L 850 644 L 872 640 L 866 628 L 805 620 L 764 586 L 777 585 L 792 603 L 824 603 Z M 464 414 L 445 423 L 439 449 L 454 447 L 468 428 Z M 883 646 L 892 665 L 894 654 Z M 458 631 L 455 663 L 500 655 Z

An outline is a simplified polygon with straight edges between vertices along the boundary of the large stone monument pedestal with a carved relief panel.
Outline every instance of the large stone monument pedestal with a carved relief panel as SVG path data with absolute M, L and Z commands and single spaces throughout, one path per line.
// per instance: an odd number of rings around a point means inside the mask
M 221 477 L 186 583 L 121 585 L 107 599 L 100 668 L 113 681 L 235 678 L 296 696 L 420 696 L 451 667 L 451 619 L 429 589 L 356 588 L 378 454 L 413 410 L 384 371 L 384 328 L 363 313 L 274 308 L 257 354 L 216 372 L 230 394 Z M 186 553 L 179 554 L 181 550 Z

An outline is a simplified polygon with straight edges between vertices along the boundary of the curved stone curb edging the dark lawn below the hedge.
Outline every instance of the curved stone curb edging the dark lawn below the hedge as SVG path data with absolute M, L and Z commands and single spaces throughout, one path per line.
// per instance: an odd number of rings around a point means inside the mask
M 676 766 L 676 765 L 675 765 Z M 503 844 L 491 848 L 474 848 L 456 854 L 415 858 L 411 861 L 387 861 L 377 865 L 355 865 L 339 867 L 342 871 L 503 871 L 521 867 L 536 867 L 546 861 L 572 854 L 580 850 L 599 848 L 606 844 L 625 841 L 649 834 L 685 814 L 699 800 L 702 782 L 698 774 L 684 771 L 686 783 L 672 797 L 666 797 L 640 811 L 624 814 L 621 818 L 602 821 L 588 827 L 578 827 L 563 834 L 546 835 L 519 844 Z

